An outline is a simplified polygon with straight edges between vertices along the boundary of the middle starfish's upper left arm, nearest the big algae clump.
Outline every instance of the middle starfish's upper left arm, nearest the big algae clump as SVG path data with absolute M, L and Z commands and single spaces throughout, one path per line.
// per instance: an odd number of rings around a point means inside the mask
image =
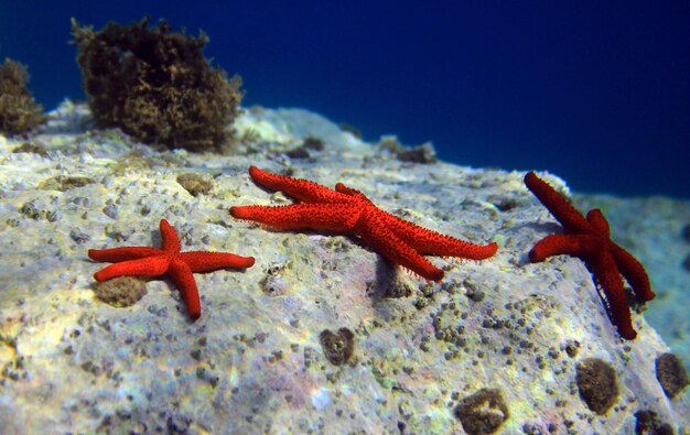
M 321 184 L 302 178 L 271 174 L 256 166 L 249 167 L 249 175 L 259 185 L 270 191 L 281 191 L 301 203 L 335 203 L 347 200 L 347 195 L 339 194 Z

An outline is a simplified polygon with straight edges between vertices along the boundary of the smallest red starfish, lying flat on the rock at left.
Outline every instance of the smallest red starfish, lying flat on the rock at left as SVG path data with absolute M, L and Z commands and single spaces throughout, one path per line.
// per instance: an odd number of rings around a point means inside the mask
M 239 257 L 226 252 L 180 252 L 180 239 L 168 220 L 161 219 L 163 249 L 149 247 L 122 247 L 89 249 L 88 257 L 96 261 L 114 262 L 96 272 L 101 282 L 116 276 L 159 276 L 169 274 L 180 291 L 193 320 L 202 315 L 202 307 L 193 272 L 211 272 L 225 268 L 251 268 L 254 257 Z

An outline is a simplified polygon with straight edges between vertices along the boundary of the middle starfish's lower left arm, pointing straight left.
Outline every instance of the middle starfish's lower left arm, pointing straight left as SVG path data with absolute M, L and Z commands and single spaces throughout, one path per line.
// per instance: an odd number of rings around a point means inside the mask
M 252 220 L 272 228 L 312 228 L 341 232 L 351 231 L 359 214 L 360 210 L 348 204 L 230 207 L 234 218 Z

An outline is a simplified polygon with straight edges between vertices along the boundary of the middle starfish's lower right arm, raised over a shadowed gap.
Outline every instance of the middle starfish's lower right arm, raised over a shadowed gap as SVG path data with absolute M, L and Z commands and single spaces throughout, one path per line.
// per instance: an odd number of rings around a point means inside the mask
M 355 227 L 355 233 L 371 249 L 387 260 L 411 270 L 425 280 L 439 282 L 443 279 L 443 271 L 391 232 L 380 216 L 376 214 L 368 216 L 370 218 L 360 219 Z

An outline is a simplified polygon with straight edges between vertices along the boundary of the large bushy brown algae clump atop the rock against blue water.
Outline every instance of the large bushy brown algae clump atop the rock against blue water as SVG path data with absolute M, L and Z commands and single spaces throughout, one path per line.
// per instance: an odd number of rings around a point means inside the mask
M 241 79 L 203 55 L 208 37 L 172 33 L 161 20 L 99 31 L 72 20 L 77 64 L 96 124 L 171 149 L 217 151 L 239 115 Z

